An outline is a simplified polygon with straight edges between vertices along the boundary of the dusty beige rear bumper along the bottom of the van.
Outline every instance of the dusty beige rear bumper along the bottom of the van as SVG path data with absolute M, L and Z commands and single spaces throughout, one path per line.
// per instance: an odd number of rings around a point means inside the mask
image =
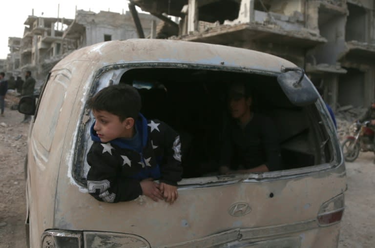
M 317 220 L 292 225 L 236 228 L 205 238 L 159 248 L 321 248 L 337 247 L 340 223 L 319 227 Z

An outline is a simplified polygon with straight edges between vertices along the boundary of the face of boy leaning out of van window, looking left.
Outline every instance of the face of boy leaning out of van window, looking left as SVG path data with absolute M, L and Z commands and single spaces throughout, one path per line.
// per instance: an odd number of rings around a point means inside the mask
M 116 138 L 131 138 L 134 125 L 133 118 L 126 118 L 123 122 L 117 115 L 104 110 L 92 110 L 96 121 L 94 130 L 101 142 L 108 142 Z

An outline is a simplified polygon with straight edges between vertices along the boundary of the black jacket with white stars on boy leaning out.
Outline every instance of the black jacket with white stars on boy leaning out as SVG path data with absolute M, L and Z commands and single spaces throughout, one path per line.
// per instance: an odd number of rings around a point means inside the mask
M 87 153 L 90 169 L 88 192 L 97 200 L 116 203 L 142 195 L 140 181 L 146 178 L 177 186 L 181 180 L 180 136 L 167 124 L 147 121 L 141 114 L 136 121 L 142 139 L 142 151 L 126 145 L 122 139 L 101 143 L 91 127 L 94 141 Z

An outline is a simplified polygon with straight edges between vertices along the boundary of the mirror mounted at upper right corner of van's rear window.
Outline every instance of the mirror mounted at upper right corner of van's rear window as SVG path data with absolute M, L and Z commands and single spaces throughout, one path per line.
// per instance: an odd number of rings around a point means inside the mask
M 315 103 L 319 94 L 302 68 L 281 68 L 277 82 L 292 104 L 306 106 Z

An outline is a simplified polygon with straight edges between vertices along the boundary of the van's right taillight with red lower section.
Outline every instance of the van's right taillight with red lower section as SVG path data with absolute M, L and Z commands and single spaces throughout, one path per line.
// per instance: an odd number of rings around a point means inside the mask
M 317 216 L 319 226 L 330 226 L 341 221 L 344 208 L 344 194 L 323 203 Z

